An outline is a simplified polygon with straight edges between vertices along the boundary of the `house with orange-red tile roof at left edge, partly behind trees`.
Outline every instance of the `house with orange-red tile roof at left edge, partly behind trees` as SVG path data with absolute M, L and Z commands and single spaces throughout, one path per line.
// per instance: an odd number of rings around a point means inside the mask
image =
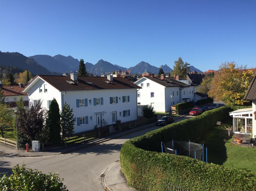
M 17 108 L 16 101 L 18 101 L 19 96 L 22 96 L 23 98 L 24 107 L 29 107 L 29 96 L 27 92 L 23 92 L 23 90 L 25 89 L 25 86 L 23 84 L 3 85 L 2 83 L 0 83 L 0 88 L 4 93 L 4 102 L 6 102 L 9 110 Z

